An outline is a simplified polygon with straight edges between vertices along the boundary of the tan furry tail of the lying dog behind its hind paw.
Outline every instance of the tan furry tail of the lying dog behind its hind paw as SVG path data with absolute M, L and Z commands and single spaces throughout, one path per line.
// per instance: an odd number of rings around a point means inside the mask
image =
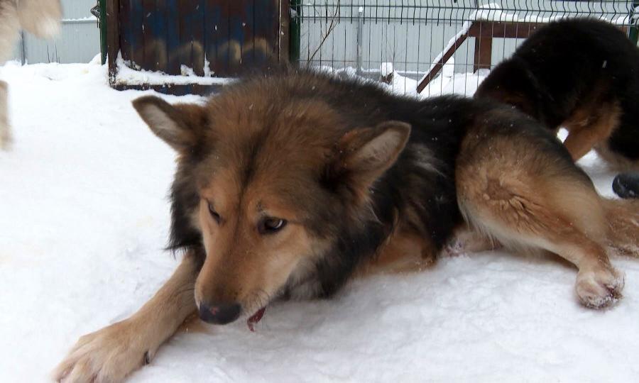
M 618 255 L 639 257 L 639 199 L 602 199 L 608 246 Z

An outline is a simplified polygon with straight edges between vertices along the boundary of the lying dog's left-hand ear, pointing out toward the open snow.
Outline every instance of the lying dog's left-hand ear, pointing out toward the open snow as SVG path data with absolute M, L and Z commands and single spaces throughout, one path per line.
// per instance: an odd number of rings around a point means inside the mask
M 178 152 L 189 150 L 197 144 L 207 126 L 204 106 L 197 104 L 175 104 L 156 96 L 143 96 L 133 100 L 151 131 Z

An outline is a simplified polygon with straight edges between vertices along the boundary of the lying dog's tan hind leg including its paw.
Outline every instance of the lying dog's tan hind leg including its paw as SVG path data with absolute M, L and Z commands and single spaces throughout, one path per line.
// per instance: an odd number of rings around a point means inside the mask
M 621 296 L 623 276 L 606 254 L 603 201 L 557 140 L 535 128 L 469 133 L 457 161 L 461 212 L 508 248 L 548 250 L 569 260 L 579 269 L 581 303 L 608 306 Z

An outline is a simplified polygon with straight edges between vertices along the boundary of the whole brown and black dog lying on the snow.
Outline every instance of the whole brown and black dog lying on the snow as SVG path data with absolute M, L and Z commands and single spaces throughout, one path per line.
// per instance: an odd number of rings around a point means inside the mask
M 464 218 L 574 263 L 586 306 L 621 296 L 607 250 L 635 252 L 638 209 L 602 199 L 555 136 L 509 106 L 309 72 L 248 79 L 204 106 L 133 104 L 178 153 L 170 248 L 185 257 L 138 313 L 80 338 L 55 379 L 124 379 L 198 307 L 207 321 L 202 307 L 222 304 L 249 316 L 279 297 L 331 296 L 355 274 L 420 268 Z

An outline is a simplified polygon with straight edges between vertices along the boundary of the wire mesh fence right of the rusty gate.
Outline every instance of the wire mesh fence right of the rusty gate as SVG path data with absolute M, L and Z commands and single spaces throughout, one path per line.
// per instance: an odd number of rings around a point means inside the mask
M 300 65 L 432 95 L 474 93 L 491 67 L 549 21 L 600 18 L 636 40 L 639 1 L 302 0 L 291 5 Z

